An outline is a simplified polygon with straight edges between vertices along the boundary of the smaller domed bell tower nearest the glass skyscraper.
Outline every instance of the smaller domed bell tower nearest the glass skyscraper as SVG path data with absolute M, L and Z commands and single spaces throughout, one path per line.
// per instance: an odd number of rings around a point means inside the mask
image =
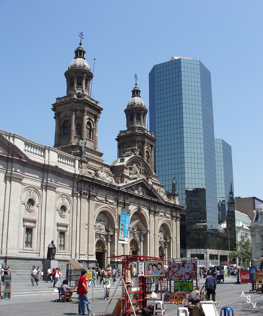
M 140 89 L 135 83 L 132 97 L 124 110 L 126 115 L 126 131 L 120 131 L 118 142 L 118 158 L 133 153 L 141 156 L 151 170 L 154 170 L 153 148 L 156 138 L 154 133 L 146 129 L 146 114 L 148 110 L 140 97 Z

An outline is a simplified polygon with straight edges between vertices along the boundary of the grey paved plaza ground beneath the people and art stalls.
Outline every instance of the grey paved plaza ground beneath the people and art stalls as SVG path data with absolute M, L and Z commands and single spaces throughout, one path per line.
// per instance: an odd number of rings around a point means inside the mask
M 235 316 L 246 315 L 262 315 L 263 314 L 263 294 L 249 293 L 251 284 L 236 284 L 236 279 L 225 278 L 224 284 L 218 284 L 216 289 L 216 300 L 218 301 L 218 313 L 221 307 L 232 307 Z M 12 297 L 11 300 L 0 301 L 1 315 L 78 315 L 77 299 L 73 302 L 63 303 L 55 302 L 58 294 L 54 293 L 52 283 L 40 281 L 39 286 L 31 286 L 30 279 L 25 281 L 12 281 Z M 200 282 L 200 286 L 204 285 L 204 280 Z M 112 285 L 110 297 L 112 297 L 116 285 Z M 119 287 L 120 288 L 120 287 Z M 242 295 L 244 292 L 244 295 Z M 104 290 L 102 285 L 93 289 L 93 302 L 91 308 L 97 316 L 103 315 L 109 301 L 103 299 Z M 89 297 L 92 301 L 92 288 L 89 288 Z M 117 289 L 116 297 L 121 295 L 121 289 Z M 242 296 L 241 296 L 242 295 Z M 248 296 L 250 295 L 250 297 Z M 107 314 L 110 315 L 116 300 L 112 300 Z M 254 306 L 254 307 L 253 307 Z M 176 316 L 178 305 L 165 304 L 165 315 Z

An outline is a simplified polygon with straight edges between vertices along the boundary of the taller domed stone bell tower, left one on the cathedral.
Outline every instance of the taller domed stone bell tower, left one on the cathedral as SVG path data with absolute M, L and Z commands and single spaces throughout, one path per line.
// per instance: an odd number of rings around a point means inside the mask
M 86 143 L 86 158 L 103 154 L 98 149 L 98 121 L 102 108 L 99 101 L 90 96 L 90 82 L 93 74 L 85 60 L 85 51 L 80 46 L 75 50 L 75 58 L 65 72 L 67 95 L 57 98 L 52 104 L 56 119 L 54 147 L 79 155 L 81 137 Z

